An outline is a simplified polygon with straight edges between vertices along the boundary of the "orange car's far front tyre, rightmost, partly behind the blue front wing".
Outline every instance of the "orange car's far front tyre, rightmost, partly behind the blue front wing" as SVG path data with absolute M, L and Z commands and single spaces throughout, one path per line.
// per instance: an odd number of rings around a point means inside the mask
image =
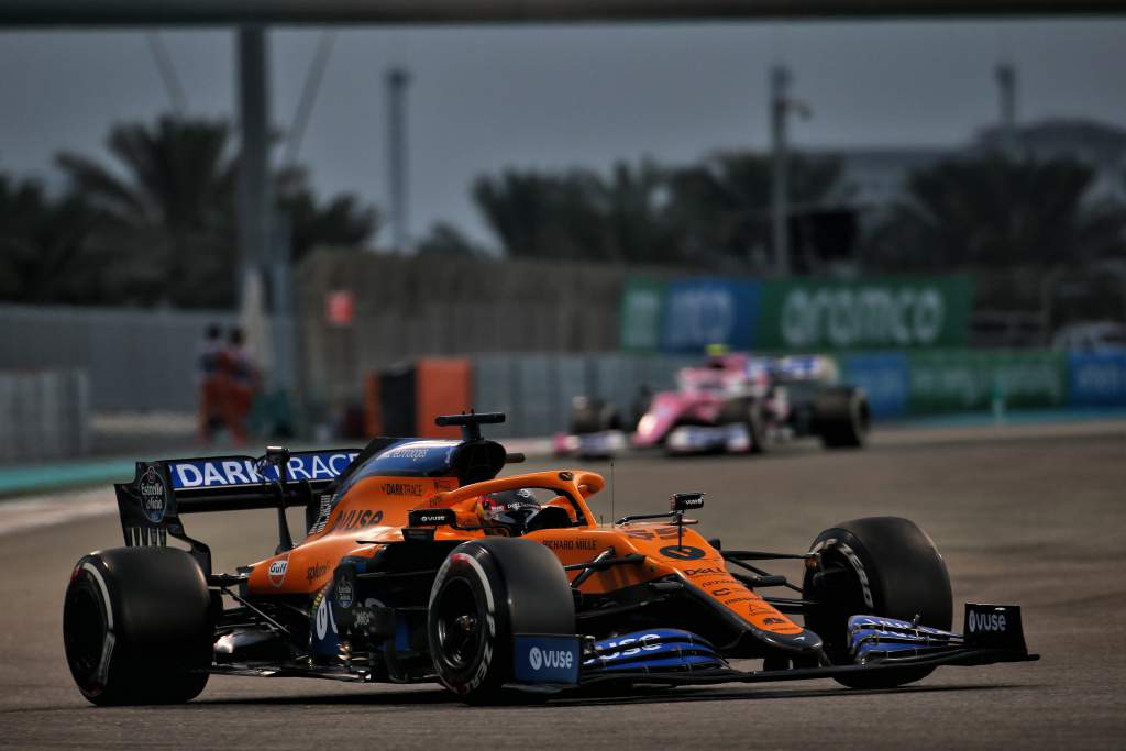
M 874 615 L 947 631 L 954 614 L 950 576 L 930 537 L 913 521 L 867 517 L 817 535 L 810 548 L 821 571 L 806 571 L 802 597 L 816 602 L 805 626 L 824 642 L 833 664 L 852 664 L 848 619 Z M 933 668 L 904 668 L 838 677 L 852 688 L 890 688 L 928 676 Z

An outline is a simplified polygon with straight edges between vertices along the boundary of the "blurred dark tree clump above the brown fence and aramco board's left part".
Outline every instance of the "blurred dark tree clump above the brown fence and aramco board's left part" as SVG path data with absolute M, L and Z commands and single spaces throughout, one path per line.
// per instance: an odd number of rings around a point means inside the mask
M 840 172 L 834 158 L 792 157 L 790 200 L 826 200 Z M 608 176 L 507 169 L 479 177 L 471 193 L 507 258 L 722 270 L 765 263 L 769 248 L 769 154 L 723 152 L 679 168 L 618 162 Z M 495 254 L 447 224 L 419 252 Z

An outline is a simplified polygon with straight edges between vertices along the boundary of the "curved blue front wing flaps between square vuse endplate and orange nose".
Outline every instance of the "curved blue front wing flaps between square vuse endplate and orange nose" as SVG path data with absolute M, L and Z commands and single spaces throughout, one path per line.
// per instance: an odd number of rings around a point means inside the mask
M 587 673 L 690 671 L 726 668 L 716 649 L 696 634 L 676 628 L 653 628 L 604 638 L 595 654 L 583 660 Z

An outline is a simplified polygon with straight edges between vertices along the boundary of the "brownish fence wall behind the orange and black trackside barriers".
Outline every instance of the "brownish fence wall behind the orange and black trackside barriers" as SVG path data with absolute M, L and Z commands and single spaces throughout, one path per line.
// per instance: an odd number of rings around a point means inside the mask
M 635 271 L 554 261 L 314 253 L 298 274 L 306 399 L 337 408 L 358 396 L 365 374 L 421 357 L 504 352 L 528 354 L 529 363 L 543 357 L 570 363 L 584 352 L 615 352 L 622 290 Z M 349 323 L 325 315 L 333 293 L 354 297 Z

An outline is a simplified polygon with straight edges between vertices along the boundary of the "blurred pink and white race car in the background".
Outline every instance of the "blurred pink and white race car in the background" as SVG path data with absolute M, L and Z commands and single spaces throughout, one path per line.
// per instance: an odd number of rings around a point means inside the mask
M 822 355 L 713 355 L 703 367 L 682 368 L 674 391 L 647 400 L 629 437 L 614 404 L 575 397 L 571 433 L 557 437 L 555 448 L 589 458 L 629 446 L 758 454 L 804 437 L 819 437 L 826 448 L 858 448 L 872 421 L 868 400 L 839 381 L 837 363 Z

